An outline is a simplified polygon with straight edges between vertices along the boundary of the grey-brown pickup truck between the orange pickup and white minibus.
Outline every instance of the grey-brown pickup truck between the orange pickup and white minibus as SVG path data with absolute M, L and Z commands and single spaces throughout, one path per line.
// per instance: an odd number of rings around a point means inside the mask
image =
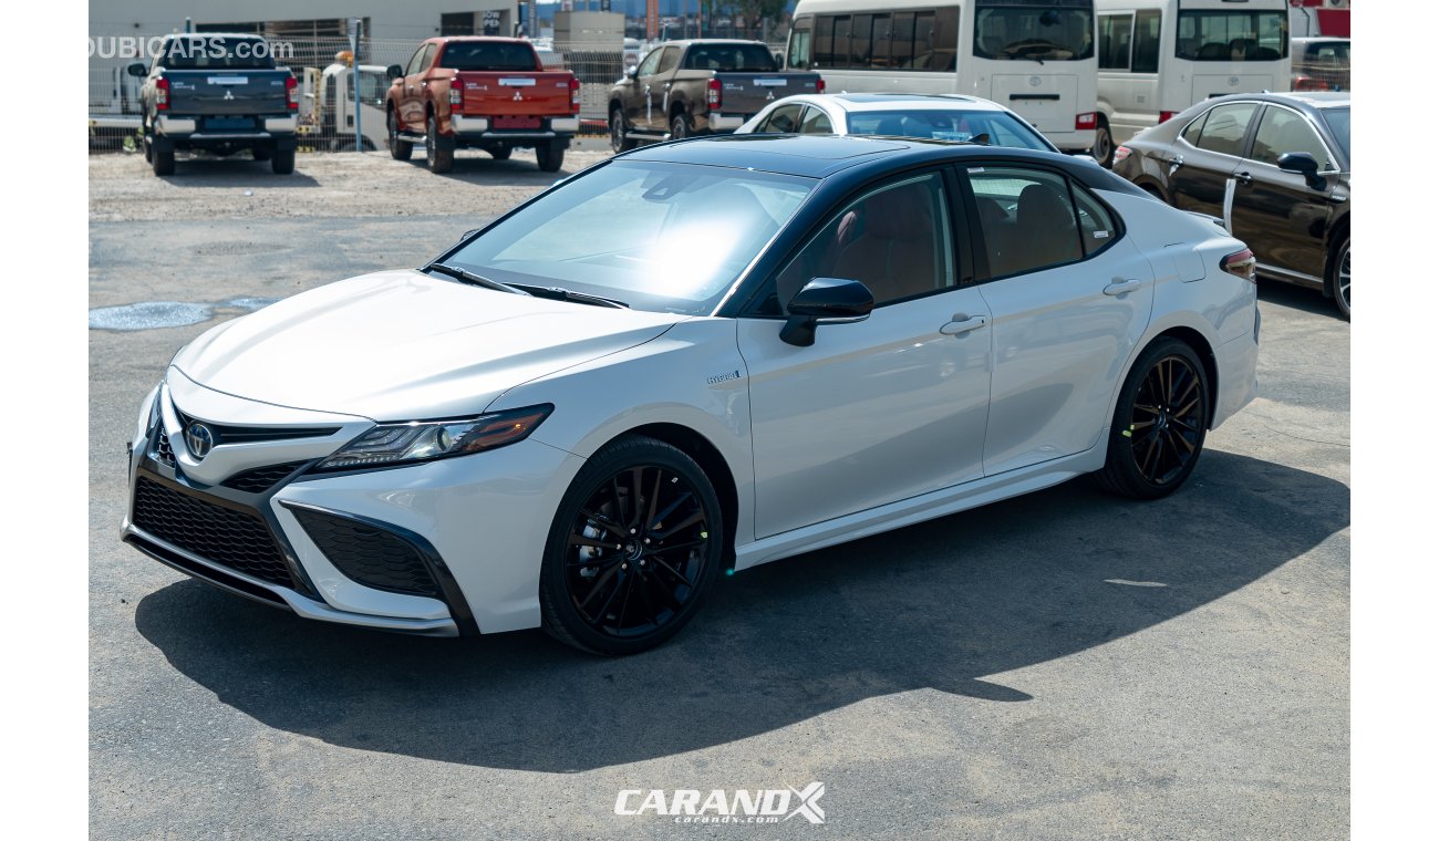
M 610 88 L 610 145 L 727 134 L 776 99 L 823 92 L 819 73 L 781 72 L 757 40 L 668 42 Z

